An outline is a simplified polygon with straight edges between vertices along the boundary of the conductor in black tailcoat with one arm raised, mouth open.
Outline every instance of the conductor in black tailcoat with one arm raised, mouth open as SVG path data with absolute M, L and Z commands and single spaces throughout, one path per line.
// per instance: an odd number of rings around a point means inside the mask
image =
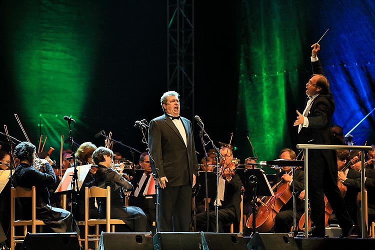
M 334 100 L 329 90 L 329 82 L 324 76 L 317 52 L 320 47 L 315 43 L 311 45 L 312 77 L 306 83 L 308 95 L 305 109 L 302 114 L 298 112 L 294 126 L 298 126 L 298 139 L 300 143 L 332 144 L 332 134 L 329 122 L 334 112 Z M 323 237 L 324 227 L 324 199 L 327 197 L 334 210 L 343 237 L 350 236 L 353 221 L 345 209 L 344 200 L 337 187 L 337 161 L 334 150 L 309 149 L 308 150 L 308 186 L 311 190 L 308 195 L 311 206 L 312 236 Z

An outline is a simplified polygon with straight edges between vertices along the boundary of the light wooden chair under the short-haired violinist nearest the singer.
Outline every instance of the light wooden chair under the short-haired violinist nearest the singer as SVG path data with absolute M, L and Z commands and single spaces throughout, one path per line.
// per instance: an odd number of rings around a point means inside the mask
M 88 219 L 88 198 L 91 197 L 105 197 L 106 198 L 106 216 L 105 219 Z M 105 224 L 105 229 L 107 232 L 114 232 L 114 226 L 116 224 L 125 224 L 122 219 L 111 219 L 110 218 L 110 186 L 106 189 L 97 186 L 92 186 L 90 188 L 85 187 L 84 189 L 84 249 L 88 249 L 88 241 L 95 241 L 95 248 L 98 247 L 99 241 L 99 225 Z M 88 234 L 88 226 L 95 226 L 95 234 Z M 112 227 L 112 230 L 110 230 Z

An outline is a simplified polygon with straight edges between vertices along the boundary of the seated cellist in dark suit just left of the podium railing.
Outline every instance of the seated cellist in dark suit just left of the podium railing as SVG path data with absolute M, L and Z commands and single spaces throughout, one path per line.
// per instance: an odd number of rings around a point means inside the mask
M 295 152 L 290 148 L 283 148 L 279 153 L 280 159 L 295 160 Z M 295 199 L 295 217 L 296 221 L 303 214 L 304 204 L 303 201 L 298 199 L 297 195 L 304 189 L 304 171 L 296 168 L 294 171 L 294 179 L 292 179 L 291 166 L 283 166 L 282 171 L 276 176 L 276 182 L 280 180 L 286 181 L 289 185 L 290 192 L 293 190 L 292 182 L 294 181 L 294 191 L 297 192 Z M 289 232 L 293 225 L 293 199 L 290 199 L 283 205 L 280 211 L 275 216 L 274 231 L 275 232 Z

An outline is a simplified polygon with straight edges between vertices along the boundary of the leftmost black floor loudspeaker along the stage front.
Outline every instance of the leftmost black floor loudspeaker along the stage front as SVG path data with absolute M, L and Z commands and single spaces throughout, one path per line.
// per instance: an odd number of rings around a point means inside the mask
M 78 236 L 75 232 L 27 233 L 22 250 L 79 250 Z

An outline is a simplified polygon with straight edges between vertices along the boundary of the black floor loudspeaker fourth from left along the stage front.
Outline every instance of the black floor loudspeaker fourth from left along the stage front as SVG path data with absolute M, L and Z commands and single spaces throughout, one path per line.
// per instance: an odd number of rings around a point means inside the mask
M 241 233 L 205 232 L 205 241 L 209 250 L 245 250 L 246 241 Z

